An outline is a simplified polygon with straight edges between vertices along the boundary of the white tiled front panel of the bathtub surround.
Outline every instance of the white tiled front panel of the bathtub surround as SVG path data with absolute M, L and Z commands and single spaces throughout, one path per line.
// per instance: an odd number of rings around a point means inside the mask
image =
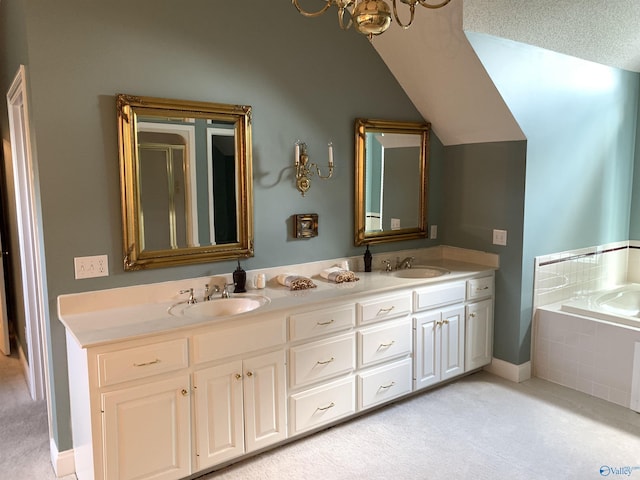
M 632 406 L 634 360 L 640 328 L 539 308 L 535 322 L 534 374 L 609 402 Z

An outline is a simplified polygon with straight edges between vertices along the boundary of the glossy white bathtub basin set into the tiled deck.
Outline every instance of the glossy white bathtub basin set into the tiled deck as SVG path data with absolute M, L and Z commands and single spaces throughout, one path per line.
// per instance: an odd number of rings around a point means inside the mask
M 640 284 L 630 283 L 572 299 L 564 302 L 560 310 L 640 328 Z

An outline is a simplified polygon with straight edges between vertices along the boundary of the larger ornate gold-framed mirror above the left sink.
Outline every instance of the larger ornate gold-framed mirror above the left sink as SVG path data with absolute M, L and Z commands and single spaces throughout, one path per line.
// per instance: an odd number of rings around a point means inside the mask
M 117 96 L 124 269 L 253 256 L 251 107 Z

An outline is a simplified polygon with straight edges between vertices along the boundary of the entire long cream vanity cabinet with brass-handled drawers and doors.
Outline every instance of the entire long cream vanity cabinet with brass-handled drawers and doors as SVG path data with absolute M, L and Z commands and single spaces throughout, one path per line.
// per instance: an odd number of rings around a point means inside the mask
M 135 323 L 124 307 L 102 341 L 110 310 L 61 314 L 78 480 L 204 474 L 490 363 L 492 270 L 412 281 L 374 272 L 328 301 L 153 333 L 165 310 Z

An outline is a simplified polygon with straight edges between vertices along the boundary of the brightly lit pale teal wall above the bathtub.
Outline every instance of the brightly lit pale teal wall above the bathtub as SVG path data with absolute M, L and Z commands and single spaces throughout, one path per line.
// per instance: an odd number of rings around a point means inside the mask
M 514 292 L 521 313 L 510 320 L 519 345 L 504 358 L 522 364 L 530 359 L 534 258 L 629 239 L 639 74 L 467 37 L 527 136 L 522 277 Z

